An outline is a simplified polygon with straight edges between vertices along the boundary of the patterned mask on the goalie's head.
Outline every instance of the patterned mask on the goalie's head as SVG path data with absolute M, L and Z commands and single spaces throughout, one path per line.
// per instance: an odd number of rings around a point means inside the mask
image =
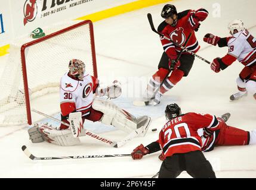
M 72 59 L 69 62 L 69 74 L 75 75 L 79 80 L 83 80 L 85 64 L 79 59 Z

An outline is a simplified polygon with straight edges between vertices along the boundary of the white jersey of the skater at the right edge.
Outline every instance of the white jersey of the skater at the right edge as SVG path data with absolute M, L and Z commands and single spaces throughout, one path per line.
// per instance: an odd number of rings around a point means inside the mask
M 256 39 L 248 30 L 242 30 L 234 34 L 227 43 L 230 55 L 234 56 L 245 66 L 256 63 Z

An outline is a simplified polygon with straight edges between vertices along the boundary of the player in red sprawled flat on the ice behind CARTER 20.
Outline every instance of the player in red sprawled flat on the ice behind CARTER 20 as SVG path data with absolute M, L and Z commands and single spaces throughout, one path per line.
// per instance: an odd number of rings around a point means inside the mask
M 244 131 L 242 129 L 229 126 L 226 124 L 230 117 L 230 113 L 225 113 L 220 118 L 219 127 L 212 134 L 211 132 L 198 129 L 198 134 L 202 139 L 202 151 L 212 151 L 215 146 L 225 146 L 225 145 L 253 145 L 256 144 L 256 129 L 249 131 Z M 154 141 L 144 147 L 143 144 L 139 145 L 132 151 L 132 159 L 142 159 L 146 154 L 155 153 L 161 150 L 159 146 L 159 140 Z M 164 154 L 159 155 L 160 160 L 164 160 Z

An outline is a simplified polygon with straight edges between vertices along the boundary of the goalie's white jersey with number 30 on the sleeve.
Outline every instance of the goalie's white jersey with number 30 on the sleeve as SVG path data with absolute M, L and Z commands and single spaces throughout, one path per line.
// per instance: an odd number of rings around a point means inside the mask
M 60 107 L 61 114 L 67 115 L 75 107 L 77 112 L 82 112 L 82 116 L 90 114 L 93 92 L 97 88 L 97 79 L 85 73 L 83 81 L 69 77 L 68 72 L 61 77 L 60 81 Z

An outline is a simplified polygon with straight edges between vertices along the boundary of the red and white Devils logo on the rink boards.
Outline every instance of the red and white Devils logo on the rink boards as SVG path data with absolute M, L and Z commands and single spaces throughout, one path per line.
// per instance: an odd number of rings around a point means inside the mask
M 36 18 L 36 14 L 38 13 L 38 5 L 36 5 L 36 0 L 26 0 L 24 7 L 24 26 L 27 22 L 32 22 Z

